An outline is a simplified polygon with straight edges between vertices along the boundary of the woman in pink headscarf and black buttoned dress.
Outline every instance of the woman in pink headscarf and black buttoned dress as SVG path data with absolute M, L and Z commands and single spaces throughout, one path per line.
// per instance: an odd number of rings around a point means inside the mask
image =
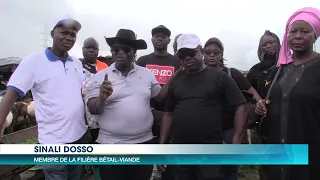
M 261 166 L 261 180 L 320 180 L 320 11 L 303 8 L 288 20 L 270 98 L 257 103 L 263 144 L 309 144 L 308 166 Z

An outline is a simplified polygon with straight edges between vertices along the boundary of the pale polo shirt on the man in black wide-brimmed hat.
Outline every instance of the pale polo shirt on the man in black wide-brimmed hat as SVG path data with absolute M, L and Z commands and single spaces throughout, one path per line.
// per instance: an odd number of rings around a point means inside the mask
M 152 139 L 150 99 L 158 95 L 161 89 L 153 73 L 134 65 L 128 75 L 123 76 L 114 63 L 95 74 L 88 86 L 88 99 L 99 96 L 105 74 L 108 74 L 108 80 L 112 83 L 113 93 L 106 100 L 104 112 L 98 120 L 100 132 L 97 142 L 136 144 Z

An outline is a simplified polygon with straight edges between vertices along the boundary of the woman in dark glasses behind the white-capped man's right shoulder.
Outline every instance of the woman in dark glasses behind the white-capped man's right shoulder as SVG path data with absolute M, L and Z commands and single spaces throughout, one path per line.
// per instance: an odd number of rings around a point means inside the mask
M 252 87 L 245 76 L 235 68 L 227 68 L 224 65 L 223 58 L 223 45 L 218 38 L 210 38 L 204 45 L 204 60 L 207 66 L 211 66 L 217 70 L 228 73 L 238 85 L 241 91 L 248 91 L 253 95 L 256 101 L 259 101 L 261 97 L 257 91 Z M 233 136 L 233 116 L 234 109 L 227 103 L 223 105 L 223 133 L 222 138 L 225 143 L 231 144 Z M 225 166 L 223 167 L 224 176 L 226 180 L 238 179 L 238 166 Z

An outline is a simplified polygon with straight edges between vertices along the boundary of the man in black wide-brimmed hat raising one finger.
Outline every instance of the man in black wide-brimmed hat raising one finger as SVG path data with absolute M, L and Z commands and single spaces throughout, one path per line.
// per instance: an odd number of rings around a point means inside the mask
M 150 99 L 161 102 L 167 86 L 161 88 L 152 72 L 134 64 L 137 50 L 146 49 L 132 30 L 120 29 L 106 38 L 115 63 L 98 72 L 88 85 L 87 106 L 91 114 L 100 115 L 100 144 L 156 144 L 152 134 L 153 115 Z M 101 166 L 102 180 L 149 180 L 152 165 Z

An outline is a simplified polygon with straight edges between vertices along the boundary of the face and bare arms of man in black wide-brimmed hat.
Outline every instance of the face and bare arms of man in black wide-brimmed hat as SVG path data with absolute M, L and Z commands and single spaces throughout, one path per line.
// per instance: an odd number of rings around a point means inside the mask
M 122 45 L 117 45 L 118 47 L 121 47 Z M 123 45 L 126 46 L 126 45 Z M 126 46 L 127 47 L 127 46 Z M 124 50 L 119 49 L 119 51 L 116 53 L 116 51 L 111 51 L 112 56 L 115 57 L 115 66 L 116 68 L 123 74 L 127 75 L 132 69 L 133 69 L 133 61 L 135 57 L 135 50 L 131 48 L 129 53 L 125 53 Z M 170 78 L 168 83 L 164 85 L 161 88 L 160 93 L 153 98 L 156 102 L 162 102 L 164 101 L 165 97 L 168 94 L 168 87 L 171 83 L 171 81 L 182 73 L 182 68 L 179 69 L 173 77 Z M 103 113 L 104 110 L 104 103 L 106 99 L 112 94 L 112 85 L 111 82 L 108 81 L 107 78 L 105 78 L 103 84 L 100 87 L 100 95 L 99 97 L 90 98 L 88 100 L 87 106 L 91 114 L 93 115 L 99 115 Z

